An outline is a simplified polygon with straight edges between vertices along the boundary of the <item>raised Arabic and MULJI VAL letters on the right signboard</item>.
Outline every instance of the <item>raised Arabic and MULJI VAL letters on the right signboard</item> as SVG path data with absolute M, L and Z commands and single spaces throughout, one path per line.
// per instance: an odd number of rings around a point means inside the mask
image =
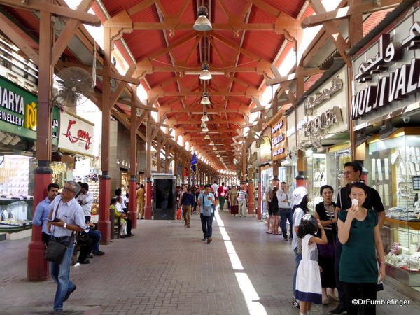
M 412 16 L 409 16 L 412 18 Z M 398 32 L 400 34 L 400 32 Z M 395 41 L 395 36 L 393 38 Z M 420 48 L 420 22 L 414 22 L 408 31 L 408 36 L 400 43 L 391 41 L 391 34 L 382 34 L 377 44 L 377 55 L 367 59 L 358 67 L 354 77 L 358 83 L 375 81 L 358 90 L 351 102 L 351 119 L 356 120 L 375 110 L 391 105 L 393 101 L 401 100 L 409 94 L 420 91 L 420 59 L 409 59 L 409 50 Z M 395 62 L 402 61 L 398 67 Z M 406 64 L 404 62 L 407 62 Z M 388 71 L 393 67 L 393 71 Z

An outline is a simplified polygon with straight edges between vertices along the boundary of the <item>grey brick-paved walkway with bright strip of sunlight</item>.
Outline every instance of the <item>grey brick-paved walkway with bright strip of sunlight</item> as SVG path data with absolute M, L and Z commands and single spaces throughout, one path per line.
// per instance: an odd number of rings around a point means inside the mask
M 255 218 L 221 214 L 214 241 L 201 241 L 200 218 L 139 221 L 135 236 L 102 246 L 106 255 L 71 267 L 78 286 L 66 314 L 298 314 L 290 306 L 290 241 L 265 234 Z M 29 239 L 0 242 L 0 314 L 48 314 L 55 283 L 26 281 Z M 405 300 L 386 286 L 382 299 Z M 335 304 L 314 307 L 328 314 Z M 377 314 L 420 314 L 420 305 L 379 306 Z

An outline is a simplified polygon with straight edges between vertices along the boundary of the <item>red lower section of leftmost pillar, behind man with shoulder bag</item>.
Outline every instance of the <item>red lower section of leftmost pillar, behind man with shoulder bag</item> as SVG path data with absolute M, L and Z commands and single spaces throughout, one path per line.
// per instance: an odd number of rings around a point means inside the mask
M 45 165 L 45 166 L 41 166 Z M 39 161 L 35 169 L 34 206 L 47 197 L 47 186 L 52 181 L 52 169 L 47 161 Z M 39 188 L 39 189 L 37 189 Z M 28 280 L 45 281 L 48 276 L 48 262 L 44 260 L 45 244 L 42 241 L 42 225 L 32 225 L 32 239 L 28 246 Z

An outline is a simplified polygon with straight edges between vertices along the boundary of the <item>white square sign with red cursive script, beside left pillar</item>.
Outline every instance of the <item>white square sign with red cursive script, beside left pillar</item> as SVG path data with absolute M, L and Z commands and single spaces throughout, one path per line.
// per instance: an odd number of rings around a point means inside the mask
M 72 113 L 61 113 L 58 146 L 60 151 L 93 156 L 94 124 Z

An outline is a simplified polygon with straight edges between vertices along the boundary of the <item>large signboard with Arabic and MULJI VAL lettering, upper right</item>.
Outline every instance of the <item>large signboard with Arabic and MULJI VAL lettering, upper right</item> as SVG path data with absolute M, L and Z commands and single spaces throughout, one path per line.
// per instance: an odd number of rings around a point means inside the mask
M 351 120 L 356 130 L 420 101 L 418 20 L 415 10 L 353 61 Z

